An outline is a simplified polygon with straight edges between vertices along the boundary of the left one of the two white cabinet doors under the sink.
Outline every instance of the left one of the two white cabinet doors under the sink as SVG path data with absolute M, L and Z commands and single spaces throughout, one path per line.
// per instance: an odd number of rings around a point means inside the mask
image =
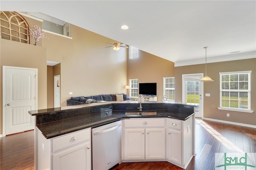
M 144 128 L 125 129 L 124 132 L 124 159 L 145 159 L 145 134 Z

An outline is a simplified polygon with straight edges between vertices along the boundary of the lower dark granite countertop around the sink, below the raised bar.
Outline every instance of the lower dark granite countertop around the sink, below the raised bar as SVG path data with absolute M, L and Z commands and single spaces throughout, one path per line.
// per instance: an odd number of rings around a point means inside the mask
M 138 110 L 136 110 L 137 112 Z M 150 110 L 152 111 L 152 110 Z M 45 138 L 53 138 L 56 136 L 60 136 L 63 134 L 68 134 L 70 132 L 75 132 L 77 130 L 82 130 L 89 127 L 97 127 L 104 124 L 112 123 L 114 121 L 118 121 L 121 119 L 130 119 L 130 118 L 159 118 L 159 117 L 167 117 L 172 119 L 178 119 L 185 121 L 190 116 L 194 115 L 194 113 L 178 113 L 178 112 L 170 112 L 166 110 L 157 110 L 158 115 L 132 115 L 128 116 L 125 114 L 126 111 L 118 110 L 112 111 L 112 113 L 106 114 L 104 113 L 95 113 L 86 116 L 74 117 L 71 119 L 64 119 L 61 121 L 54 121 L 50 123 L 38 124 L 36 127 L 42 132 Z M 131 111 L 129 111 L 131 112 Z M 145 111 L 144 111 L 145 112 Z

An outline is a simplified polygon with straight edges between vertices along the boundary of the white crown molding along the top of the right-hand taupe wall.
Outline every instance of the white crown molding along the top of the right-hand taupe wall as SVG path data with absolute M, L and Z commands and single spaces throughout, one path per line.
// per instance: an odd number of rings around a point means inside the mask
M 251 59 L 256 58 L 256 51 L 250 51 L 246 53 L 235 53 L 230 55 L 220 55 L 216 57 L 207 57 L 207 63 L 216 63 L 216 62 L 223 62 L 223 61 L 234 61 L 240 59 Z M 205 59 L 193 59 L 193 60 L 186 60 L 186 61 L 177 61 L 174 63 L 174 67 L 180 67 L 185 65 L 196 65 L 196 64 L 205 64 Z

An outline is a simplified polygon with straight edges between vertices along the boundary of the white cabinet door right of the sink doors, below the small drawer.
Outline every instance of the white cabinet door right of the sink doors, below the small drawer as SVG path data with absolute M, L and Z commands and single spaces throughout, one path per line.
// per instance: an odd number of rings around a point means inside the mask
M 181 131 L 168 129 L 167 159 L 178 164 L 182 163 L 181 137 Z

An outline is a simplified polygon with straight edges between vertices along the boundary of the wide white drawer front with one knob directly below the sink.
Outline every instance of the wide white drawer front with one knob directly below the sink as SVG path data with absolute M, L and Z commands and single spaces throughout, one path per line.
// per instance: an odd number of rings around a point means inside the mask
M 124 127 L 165 127 L 165 119 L 125 119 Z

